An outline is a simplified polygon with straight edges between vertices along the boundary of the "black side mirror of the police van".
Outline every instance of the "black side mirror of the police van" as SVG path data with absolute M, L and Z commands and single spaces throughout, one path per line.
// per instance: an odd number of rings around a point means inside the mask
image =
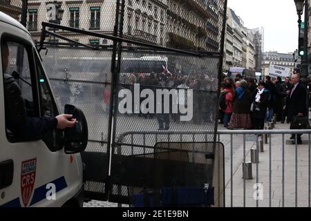
M 84 113 L 73 105 L 65 105 L 65 114 L 73 115 L 77 123 L 73 128 L 66 128 L 64 134 L 65 153 L 80 153 L 88 144 L 88 124 Z

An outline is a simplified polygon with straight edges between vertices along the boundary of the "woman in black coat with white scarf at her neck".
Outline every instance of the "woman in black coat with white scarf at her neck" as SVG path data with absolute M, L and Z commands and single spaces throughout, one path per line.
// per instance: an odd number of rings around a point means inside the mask
M 263 130 L 265 126 L 265 113 L 267 111 L 267 105 L 269 102 L 269 90 L 265 88 L 263 81 L 259 82 L 258 88 L 253 94 L 253 127 L 255 130 Z

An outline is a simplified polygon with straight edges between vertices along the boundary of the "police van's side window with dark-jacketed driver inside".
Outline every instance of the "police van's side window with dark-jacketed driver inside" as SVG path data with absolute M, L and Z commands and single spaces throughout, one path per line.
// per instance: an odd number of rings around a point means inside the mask
M 23 128 L 27 117 L 39 115 L 34 91 L 32 52 L 17 41 L 1 42 L 6 135 L 9 142 L 28 140 Z M 35 95 L 35 96 L 34 96 Z M 35 99 L 34 99 L 35 97 Z M 35 101 L 35 102 L 34 102 Z

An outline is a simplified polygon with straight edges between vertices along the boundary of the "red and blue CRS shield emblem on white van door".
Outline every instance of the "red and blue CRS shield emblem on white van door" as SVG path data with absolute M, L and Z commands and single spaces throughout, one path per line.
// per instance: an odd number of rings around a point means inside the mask
M 21 163 L 21 198 L 23 205 L 27 206 L 35 185 L 37 158 Z

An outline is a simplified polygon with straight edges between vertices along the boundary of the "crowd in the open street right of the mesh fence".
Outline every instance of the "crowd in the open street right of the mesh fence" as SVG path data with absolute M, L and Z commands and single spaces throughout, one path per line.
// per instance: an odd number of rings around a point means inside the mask
M 225 77 L 221 84 L 220 99 L 225 99 L 225 106 L 220 107 L 220 123 L 228 129 L 256 129 L 263 130 L 265 122 L 270 122 L 276 115 L 276 122 L 290 123 L 294 115 L 306 115 L 307 108 L 306 90 L 301 90 L 301 100 L 298 106 L 304 106 L 303 110 L 296 110 L 291 97 L 295 87 L 299 85 L 300 75 L 293 74 L 292 79 L 281 77 L 272 79 L 265 77 L 265 81 L 256 82 L 256 79 L 242 79 L 237 75 L 236 79 Z M 301 97 L 301 98 L 300 98 Z M 305 97 L 303 99 L 302 97 Z

